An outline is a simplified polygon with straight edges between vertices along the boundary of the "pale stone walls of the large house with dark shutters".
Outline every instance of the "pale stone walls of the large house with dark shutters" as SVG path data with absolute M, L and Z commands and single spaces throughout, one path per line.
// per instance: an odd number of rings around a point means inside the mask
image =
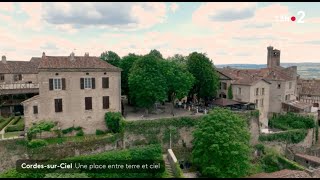
M 64 60 L 61 60 L 64 61 Z M 65 59 L 68 61 L 68 59 Z M 97 60 L 99 61 L 99 60 Z M 102 61 L 102 60 L 101 60 Z M 76 63 L 77 61 L 75 61 Z M 106 62 L 104 62 L 106 63 Z M 64 88 L 50 89 L 49 79 L 64 79 Z M 95 87 L 81 88 L 81 78 L 93 79 Z M 102 78 L 109 78 L 108 88 L 103 88 Z M 66 129 L 81 126 L 85 133 L 106 129 L 106 112 L 121 112 L 121 71 L 98 68 L 39 69 L 39 96 L 23 102 L 26 128 L 42 120 L 58 122 Z M 93 86 L 93 85 L 92 85 Z M 109 96 L 108 108 L 103 107 L 103 97 Z M 85 98 L 91 97 L 90 110 L 86 110 Z M 57 111 L 56 99 L 62 99 L 62 110 Z M 37 108 L 37 113 L 34 111 Z M 59 106 L 60 107 L 60 106 Z

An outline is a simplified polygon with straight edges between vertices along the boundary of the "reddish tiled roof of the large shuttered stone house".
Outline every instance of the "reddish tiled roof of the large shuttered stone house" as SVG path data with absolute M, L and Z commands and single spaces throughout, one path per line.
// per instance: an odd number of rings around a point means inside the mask
M 109 71 L 121 71 L 99 57 L 94 56 L 44 56 L 40 60 L 39 69 L 106 69 Z

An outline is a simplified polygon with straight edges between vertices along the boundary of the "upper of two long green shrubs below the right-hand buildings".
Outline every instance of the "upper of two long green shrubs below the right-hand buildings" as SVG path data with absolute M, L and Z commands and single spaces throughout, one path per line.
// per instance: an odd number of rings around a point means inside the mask
M 315 127 L 315 122 L 311 116 L 303 116 L 295 113 L 274 115 L 269 120 L 269 126 L 282 130 L 290 129 L 310 129 Z

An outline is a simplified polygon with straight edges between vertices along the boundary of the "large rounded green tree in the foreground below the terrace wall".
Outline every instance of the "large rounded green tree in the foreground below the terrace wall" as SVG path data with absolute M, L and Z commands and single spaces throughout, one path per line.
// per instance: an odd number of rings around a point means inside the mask
M 236 178 L 250 167 L 247 122 L 230 110 L 216 108 L 203 117 L 193 137 L 193 162 L 206 177 Z

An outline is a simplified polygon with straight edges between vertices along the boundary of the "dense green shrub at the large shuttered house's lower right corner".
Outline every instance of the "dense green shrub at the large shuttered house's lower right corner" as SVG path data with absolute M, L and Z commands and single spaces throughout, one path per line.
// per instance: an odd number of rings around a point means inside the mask
M 123 132 L 124 120 L 120 112 L 107 112 L 105 114 L 105 122 L 113 133 Z

